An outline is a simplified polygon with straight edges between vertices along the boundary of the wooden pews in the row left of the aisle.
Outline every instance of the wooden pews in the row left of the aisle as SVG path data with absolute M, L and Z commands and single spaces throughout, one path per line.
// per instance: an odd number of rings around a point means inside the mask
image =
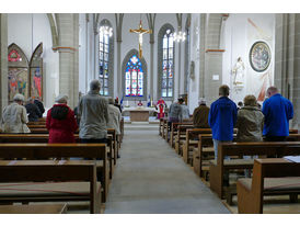
M 122 136 L 108 129 L 107 145 L 80 144 L 78 134 L 77 144 L 47 144 L 45 120 L 28 123 L 28 127 L 34 133 L 0 134 L 0 213 L 34 213 L 38 205 L 11 204 L 45 201 L 89 201 L 90 213 L 101 213 L 119 156 L 124 124 Z M 5 208 L 3 204 L 10 205 Z M 67 210 L 65 205 L 41 206 L 41 213 Z

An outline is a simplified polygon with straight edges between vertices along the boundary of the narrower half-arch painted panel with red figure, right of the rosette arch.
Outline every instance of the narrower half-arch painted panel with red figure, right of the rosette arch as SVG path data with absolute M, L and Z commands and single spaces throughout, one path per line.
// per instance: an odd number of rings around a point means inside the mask
M 30 95 L 43 100 L 43 43 L 33 52 L 30 61 Z

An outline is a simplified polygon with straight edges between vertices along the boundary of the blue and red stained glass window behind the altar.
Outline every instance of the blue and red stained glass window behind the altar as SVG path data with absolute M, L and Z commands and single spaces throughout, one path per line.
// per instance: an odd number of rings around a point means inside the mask
M 132 55 L 126 65 L 125 95 L 143 97 L 143 70 L 137 55 Z

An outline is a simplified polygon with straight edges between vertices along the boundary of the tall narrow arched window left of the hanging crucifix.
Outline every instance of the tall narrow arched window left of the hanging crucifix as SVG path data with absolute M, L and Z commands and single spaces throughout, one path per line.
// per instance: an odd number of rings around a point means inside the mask
M 113 87 L 113 29 L 107 20 L 99 29 L 99 80 L 100 94 L 111 95 Z

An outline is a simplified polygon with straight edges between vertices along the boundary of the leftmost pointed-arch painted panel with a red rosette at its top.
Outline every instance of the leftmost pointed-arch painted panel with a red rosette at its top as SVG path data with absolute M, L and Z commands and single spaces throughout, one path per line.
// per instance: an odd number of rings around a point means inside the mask
M 28 86 L 28 59 L 24 52 L 14 43 L 8 49 L 8 99 L 13 101 L 16 93 L 21 93 L 25 99 L 30 94 Z

